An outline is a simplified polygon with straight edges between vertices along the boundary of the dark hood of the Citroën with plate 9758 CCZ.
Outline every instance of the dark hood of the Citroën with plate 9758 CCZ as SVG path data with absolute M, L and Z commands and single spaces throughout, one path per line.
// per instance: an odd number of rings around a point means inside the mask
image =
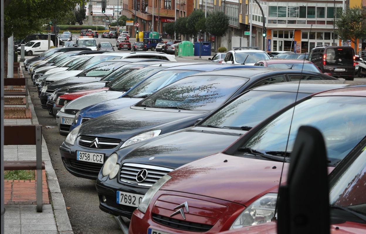
M 171 109 L 131 106 L 83 123 L 79 135 L 119 138 L 126 141 L 147 129 L 175 120 L 198 119 L 201 114 L 192 111 L 178 112 L 178 110 Z

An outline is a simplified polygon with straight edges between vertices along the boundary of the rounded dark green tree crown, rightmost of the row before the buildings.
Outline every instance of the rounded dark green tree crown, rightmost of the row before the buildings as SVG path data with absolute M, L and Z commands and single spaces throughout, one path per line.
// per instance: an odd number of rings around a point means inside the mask
M 206 19 L 206 32 L 214 36 L 223 36 L 229 28 L 229 18 L 222 11 L 212 12 Z

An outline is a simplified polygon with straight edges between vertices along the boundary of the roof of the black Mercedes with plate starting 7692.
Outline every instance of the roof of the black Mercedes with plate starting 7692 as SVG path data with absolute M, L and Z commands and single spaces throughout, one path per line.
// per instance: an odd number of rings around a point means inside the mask
M 252 90 L 256 91 L 277 91 L 277 92 L 297 92 L 299 93 L 318 93 L 329 89 L 338 89 L 355 85 L 366 85 L 366 81 L 343 81 L 343 80 L 302 80 L 281 82 L 275 84 L 262 85 Z

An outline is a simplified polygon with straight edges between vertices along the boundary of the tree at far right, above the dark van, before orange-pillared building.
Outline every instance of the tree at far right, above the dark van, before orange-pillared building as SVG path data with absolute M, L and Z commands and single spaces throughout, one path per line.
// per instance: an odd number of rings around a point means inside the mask
M 343 41 L 351 40 L 356 51 L 357 39 L 366 36 L 366 27 L 362 22 L 366 20 L 366 14 L 359 7 L 347 8 L 336 21 L 336 34 Z

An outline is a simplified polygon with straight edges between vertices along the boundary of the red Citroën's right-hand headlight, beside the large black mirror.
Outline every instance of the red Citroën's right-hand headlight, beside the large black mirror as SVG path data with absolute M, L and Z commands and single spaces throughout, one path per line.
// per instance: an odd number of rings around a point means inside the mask
M 267 193 L 251 203 L 235 219 L 230 230 L 271 222 L 275 214 L 277 193 Z

